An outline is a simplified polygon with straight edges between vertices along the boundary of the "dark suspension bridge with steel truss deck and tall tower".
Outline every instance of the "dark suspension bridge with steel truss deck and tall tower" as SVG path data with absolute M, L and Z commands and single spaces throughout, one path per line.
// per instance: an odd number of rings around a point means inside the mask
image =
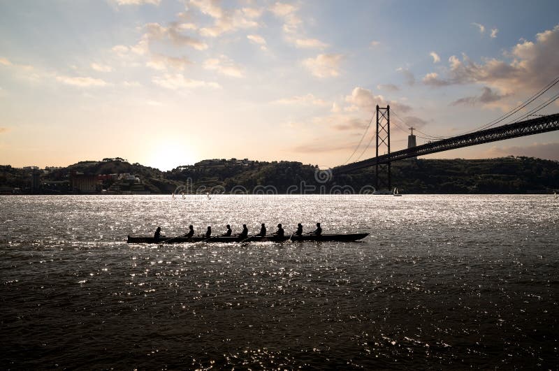
M 386 119 L 384 124 L 379 122 L 379 115 L 383 119 Z M 388 187 L 391 189 L 390 163 L 393 161 L 400 161 L 403 159 L 410 159 L 448 150 L 456 150 L 456 148 L 468 147 L 470 145 L 479 145 L 482 143 L 518 138 L 521 136 L 531 136 L 533 134 L 546 133 L 548 131 L 555 130 L 559 130 L 559 113 L 537 117 L 534 119 L 526 119 L 513 124 L 475 131 L 473 133 L 437 140 L 424 145 L 418 145 L 416 147 L 409 147 L 405 150 L 390 152 L 390 106 L 387 106 L 386 108 L 379 108 L 379 106 L 377 106 L 377 157 L 337 166 L 332 169 L 332 173 L 334 175 L 351 173 L 355 170 L 375 166 L 377 168 L 376 177 L 378 189 L 379 166 L 386 165 L 388 170 Z M 379 156 L 379 145 L 382 144 L 386 145 L 388 152 Z

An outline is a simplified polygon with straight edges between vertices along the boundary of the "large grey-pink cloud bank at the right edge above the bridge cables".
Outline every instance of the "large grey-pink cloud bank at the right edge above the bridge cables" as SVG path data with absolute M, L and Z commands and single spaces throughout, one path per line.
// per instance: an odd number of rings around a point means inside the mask
M 446 76 L 429 73 L 426 85 L 483 84 L 500 92 L 533 93 L 559 75 L 559 25 L 536 35 L 535 41 L 521 41 L 504 53 L 509 61 L 483 59 L 477 64 L 465 54 L 462 60 L 449 58 Z

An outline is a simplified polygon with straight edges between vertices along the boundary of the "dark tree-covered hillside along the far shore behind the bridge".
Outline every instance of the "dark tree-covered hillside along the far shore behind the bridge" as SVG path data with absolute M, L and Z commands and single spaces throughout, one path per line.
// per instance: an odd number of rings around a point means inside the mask
M 17 187 L 20 193 L 72 193 L 71 178 L 83 175 L 130 174 L 139 178 L 152 194 L 270 193 L 301 194 L 348 191 L 358 193 L 375 185 L 375 169 L 328 178 L 316 177 L 317 166 L 296 161 L 251 161 L 248 159 L 204 160 L 162 172 L 120 158 L 80 161 L 66 168 L 36 170 L 0 166 L 0 189 Z M 328 175 L 324 173 L 322 175 Z M 99 178 L 99 177 L 97 177 Z M 99 180 L 108 189 L 115 176 Z M 112 179 L 112 180 L 111 180 Z M 32 184 L 36 186 L 33 188 Z M 102 184 L 101 184 L 102 183 Z M 37 186 L 39 184 L 39 186 Z M 52 185 L 54 184 L 54 186 Z M 407 194 L 526 194 L 552 193 L 559 189 L 559 162 L 531 157 L 500 159 L 416 159 L 392 164 L 392 184 Z M 53 188 L 54 187 L 54 188 Z M 66 188 L 64 188 L 66 187 Z

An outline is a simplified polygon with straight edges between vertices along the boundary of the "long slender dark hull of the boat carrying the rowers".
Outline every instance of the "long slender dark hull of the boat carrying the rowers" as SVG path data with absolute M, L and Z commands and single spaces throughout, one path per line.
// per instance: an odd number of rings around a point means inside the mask
M 292 241 L 340 241 L 340 242 L 354 242 L 357 240 L 361 240 L 367 237 L 369 233 L 350 233 L 350 234 L 331 234 L 331 235 L 292 235 Z M 282 236 L 279 237 L 277 235 L 266 235 L 262 237 L 261 235 L 251 235 L 249 237 L 238 237 L 238 236 L 231 236 L 231 237 L 224 237 L 224 236 L 216 236 L 216 237 L 133 237 L 131 235 L 128 236 L 128 243 L 183 243 L 183 242 L 285 242 L 289 240 L 289 236 Z

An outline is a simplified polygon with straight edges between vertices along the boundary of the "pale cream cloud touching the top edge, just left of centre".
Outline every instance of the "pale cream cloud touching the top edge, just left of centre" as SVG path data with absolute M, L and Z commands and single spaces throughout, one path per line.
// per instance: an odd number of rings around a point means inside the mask
M 256 19 L 262 14 L 262 10 L 257 8 L 224 9 L 219 6 L 217 0 L 190 0 L 189 4 L 192 8 L 196 8 L 214 19 L 212 27 L 200 29 L 202 36 L 217 37 L 238 29 L 258 27 L 259 23 L 256 22 Z

